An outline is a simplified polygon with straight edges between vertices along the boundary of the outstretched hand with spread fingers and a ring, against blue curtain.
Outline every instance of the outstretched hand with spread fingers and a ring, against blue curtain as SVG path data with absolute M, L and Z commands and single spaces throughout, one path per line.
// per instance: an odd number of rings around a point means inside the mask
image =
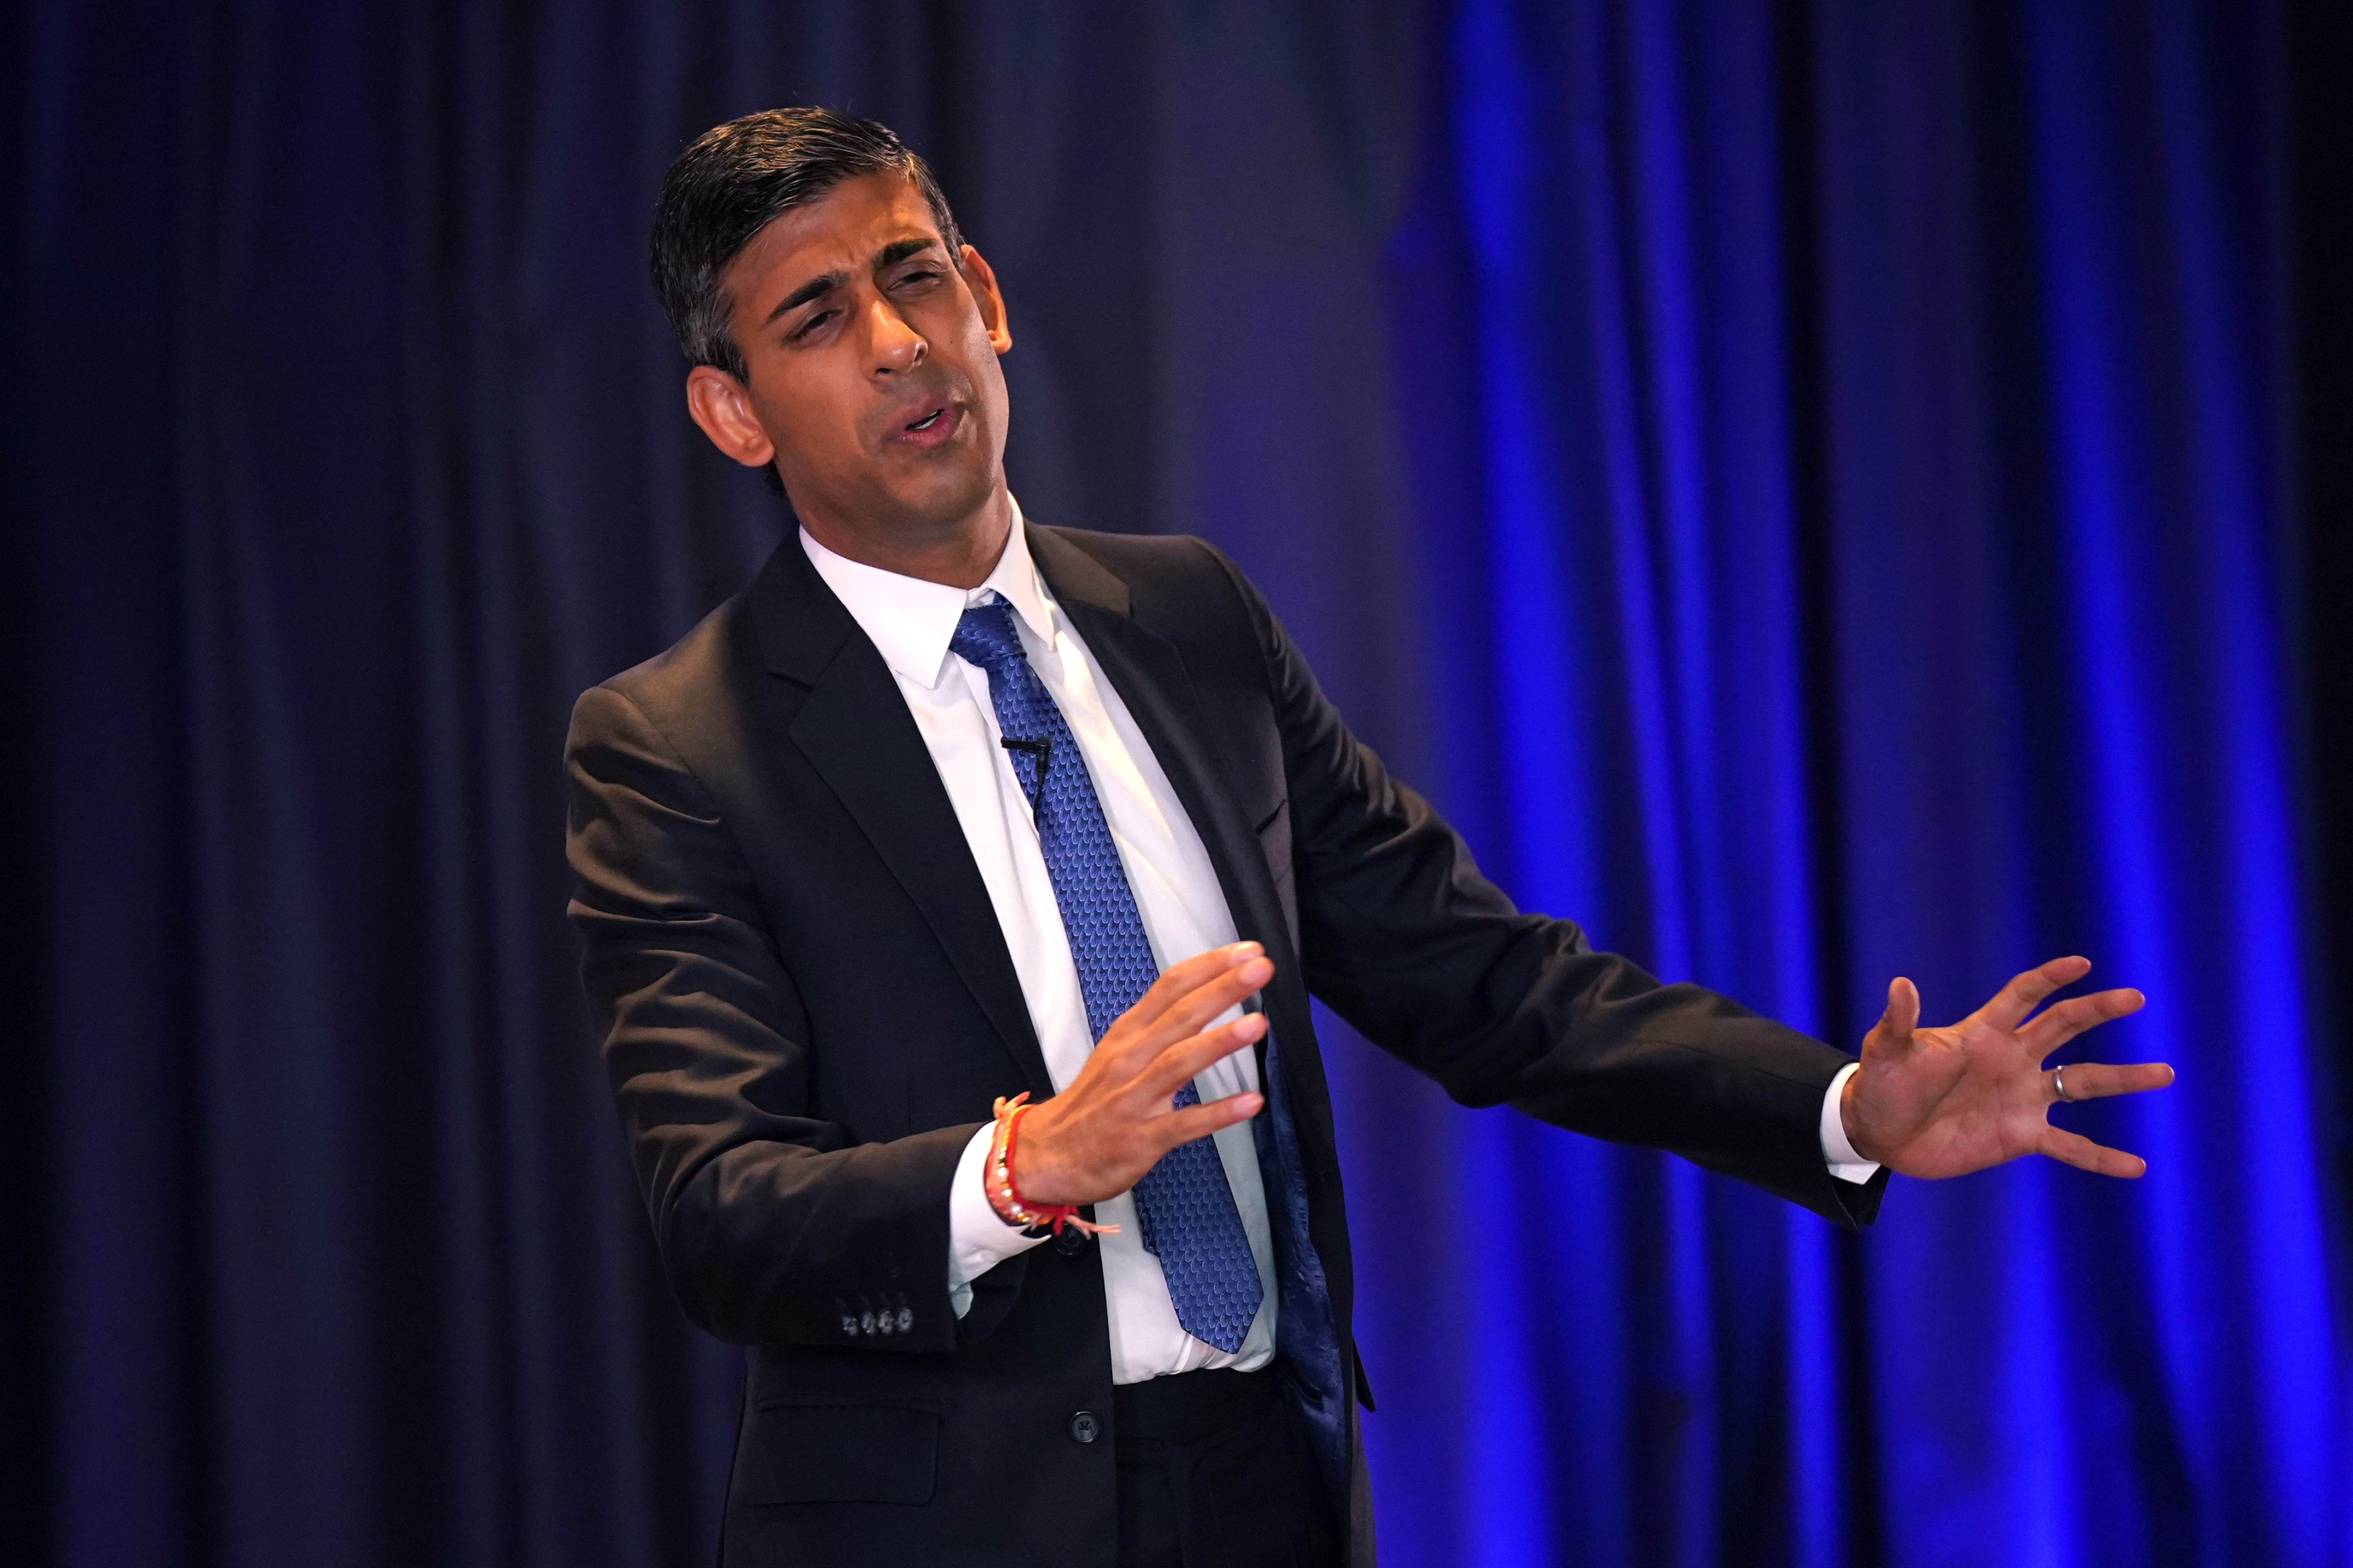
M 2021 1154 L 2049 1154 L 2099 1175 L 2141 1175 L 2148 1161 L 2061 1131 L 2045 1117 L 2061 1098 L 2099 1100 L 2174 1081 L 2165 1063 L 2042 1070 L 2047 1056 L 2085 1030 L 2141 1011 L 2141 992 L 2111 990 L 2071 997 L 2028 1020 L 2045 997 L 2089 971 L 2089 959 L 2052 959 L 1941 1030 L 1918 1027 L 1920 992 L 1911 980 L 1894 980 L 1887 1013 L 1864 1037 L 1864 1067 L 1847 1079 L 1840 1100 L 1847 1143 L 1904 1175 L 1967 1175 Z

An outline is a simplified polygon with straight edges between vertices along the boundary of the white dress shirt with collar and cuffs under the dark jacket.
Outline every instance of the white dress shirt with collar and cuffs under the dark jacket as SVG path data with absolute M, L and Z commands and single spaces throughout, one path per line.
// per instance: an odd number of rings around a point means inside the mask
M 1167 773 L 1136 729 L 1127 703 L 1104 679 L 1101 665 L 1080 642 L 1061 607 L 1047 592 L 1031 562 L 1021 531 L 1021 510 L 998 557 L 995 571 L 974 590 L 899 576 L 864 567 L 824 548 L 802 529 L 800 548 L 826 578 L 833 595 L 849 609 L 866 637 L 882 654 L 899 693 L 906 698 L 915 729 L 922 733 L 939 780 L 955 806 L 972 858 L 988 886 L 1005 947 L 1012 952 L 1021 997 L 1045 1053 L 1047 1074 L 1061 1091 L 1078 1077 L 1094 1051 L 1087 1025 L 1087 1001 L 1078 987 L 1078 964 L 1061 929 L 1054 884 L 1038 846 L 1038 823 L 1028 795 L 1014 773 L 1012 755 L 998 745 L 998 712 L 988 698 L 988 672 L 948 651 L 965 609 L 1005 599 L 1028 663 L 1054 693 L 1078 750 L 1085 755 L 1094 797 L 1104 806 L 1111 839 L 1120 849 L 1127 886 L 1144 919 L 1153 961 L 1160 969 L 1224 947 L 1235 940 L 1233 912 L 1217 884 L 1209 853 L 1193 820 L 1176 802 Z M 1228 1011 L 1226 1018 L 1235 1013 Z M 1878 1166 L 1864 1161 L 1847 1143 L 1838 1114 L 1838 1093 L 1854 1067 L 1840 1070 L 1821 1103 L 1821 1150 L 1833 1175 L 1849 1182 L 1868 1180 Z M 1259 1086 L 1252 1051 L 1235 1051 L 1193 1079 L 1202 1100 Z M 948 1291 L 955 1314 L 972 1307 L 972 1281 L 1005 1258 L 1035 1246 L 1035 1239 L 1005 1225 L 981 1187 L 981 1164 L 991 1128 L 974 1133 L 955 1166 L 948 1187 Z M 1254 1371 L 1275 1352 L 1275 1267 L 1266 1229 L 1266 1190 L 1259 1182 L 1259 1157 L 1249 1124 L 1217 1133 L 1217 1152 L 1233 1185 L 1233 1201 L 1249 1237 L 1249 1255 L 1259 1265 L 1264 1300 L 1249 1324 L 1240 1352 L 1221 1352 L 1195 1340 L 1176 1324 L 1160 1260 L 1144 1251 L 1132 1192 L 1094 1206 L 1101 1225 L 1118 1225 L 1099 1237 L 1104 1248 L 1104 1295 L 1111 1309 L 1111 1380 L 1144 1382 L 1205 1366 Z

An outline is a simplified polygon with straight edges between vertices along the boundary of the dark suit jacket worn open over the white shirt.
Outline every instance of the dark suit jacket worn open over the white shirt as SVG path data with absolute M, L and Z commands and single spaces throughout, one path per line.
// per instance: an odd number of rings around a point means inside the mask
M 1842 1225 L 1838 1051 L 1518 912 L 1193 538 L 1028 531 L 1266 943 L 1266 1011 L 1339 1380 L 1348 1225 L 1308 994 L 1466 1105 L 1673 1150 Z M 572 917 L 621 1124 L 687 1316 L 751 1347 L 727 1563 L 1111 1568 L 1094 1246 L 948 1305 L 948 1178 L 1000 1093 L 1052 1093 L 988 891 L 882 656 L 788 538 L 661 658 L 584 693 Z M 1264 1053 L 1264 1046 L 1261 1046 Z M 1264 1147 L 1264 1145 L 1261 1145 Z M 1339 1509 L 1372 1561 L 1355 1401 Z M 1094 1413 L 1099 1441 L 1080 1441 Z

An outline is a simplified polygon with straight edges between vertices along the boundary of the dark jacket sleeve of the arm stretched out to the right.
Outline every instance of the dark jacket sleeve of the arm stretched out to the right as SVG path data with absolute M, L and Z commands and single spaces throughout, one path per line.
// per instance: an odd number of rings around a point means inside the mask
M 1668 1150 L 1868 1225 L 1887 1173 L 1842 1182 L 1821 1154 L 1821 1100 L 1854 1058 L 1513 907 L 1348 731 L 1264 597 L 1224 564 L 1282 736 L 1308 990 L 1464 1105 Z

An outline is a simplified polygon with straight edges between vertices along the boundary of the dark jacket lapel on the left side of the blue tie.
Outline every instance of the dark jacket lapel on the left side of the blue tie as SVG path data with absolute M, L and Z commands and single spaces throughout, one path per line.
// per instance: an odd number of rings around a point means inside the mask
M 1031 1095 L 1054 1093 L 988 884 L 899 682 L 786 538 L 751 592 L 769 675 L 807 689 L 786 733 L 849 811 L 995 1025 Z

